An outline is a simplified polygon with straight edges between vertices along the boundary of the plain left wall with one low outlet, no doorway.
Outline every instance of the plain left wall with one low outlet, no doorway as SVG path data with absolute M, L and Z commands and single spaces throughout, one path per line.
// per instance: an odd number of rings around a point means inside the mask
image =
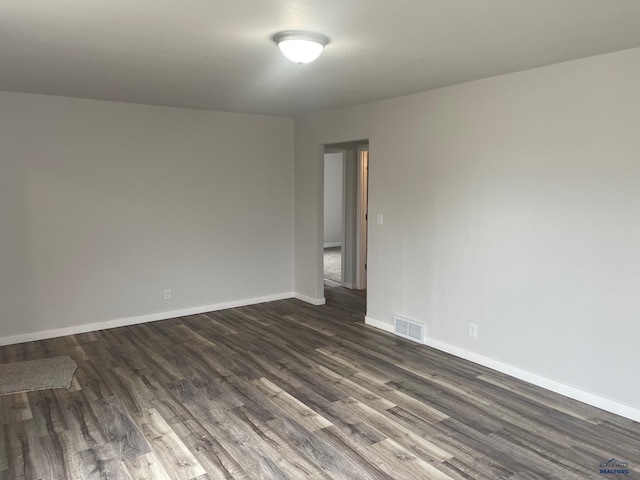
M 0 338 L 290 293 L 293 135 L 0 93 Z

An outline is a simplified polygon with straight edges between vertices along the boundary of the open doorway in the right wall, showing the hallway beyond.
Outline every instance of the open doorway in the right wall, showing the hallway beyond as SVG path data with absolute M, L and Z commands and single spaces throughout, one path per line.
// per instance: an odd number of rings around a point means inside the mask
M 324 147 L 323 284 L 366 291 L 367 141 Z

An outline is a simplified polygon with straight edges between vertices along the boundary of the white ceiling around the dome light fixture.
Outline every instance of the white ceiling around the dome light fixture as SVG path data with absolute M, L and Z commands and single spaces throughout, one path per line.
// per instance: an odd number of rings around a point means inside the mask
M 633 47 L 640 0 L 0 0 L 0 90 L 272 115 Z

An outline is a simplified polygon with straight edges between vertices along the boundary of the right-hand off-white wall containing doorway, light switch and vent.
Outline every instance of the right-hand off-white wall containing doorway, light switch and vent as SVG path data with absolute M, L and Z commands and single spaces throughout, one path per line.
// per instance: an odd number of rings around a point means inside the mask
M 318 145 L 368 137 L 368 317 L 637 415 L 638 85 L 634 49 L 298 119 L 296 291 L 322 296 Z

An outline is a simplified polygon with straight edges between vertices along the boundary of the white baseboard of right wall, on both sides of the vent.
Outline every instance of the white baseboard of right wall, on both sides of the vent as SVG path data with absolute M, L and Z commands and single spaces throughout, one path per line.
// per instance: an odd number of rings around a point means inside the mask
M 371 317 L 365 317 L 365 323 L 367 325 L 371 325 L 372 327 L 376 327 L 386 332 L 393 333 L 393 325 L 389 323 L 381 322 Z M 477 363 L 492 370 L 497 370 L 498 372 L 518 378 L 525 382 L 544 388 L 545 390 L 559 393 L 560 395 L 573 398 L 574 400 L 586 403 L 587 405 L 591 405 L 593 407 L 606 410 L 607 412 L 615 413 L 616 415 L 620 415 L 621 417 L 640 422 L 640 409 L 632 407 L 630 405 L 601 397 L 594 393 L 581 390 L 571 385 L 566 385 L 556 380 L 538 375 L 537 373 L 532 373 L 527 370 L 514 367 L 513 365 L 494 360 L 493 358 L 485 357 L 478 353 L 465 350 L 464 348 L 457 347 L 440 340 L 425 338 L 424 344 L 428 347 L 435 348 L 436 350 L 440 350 L 442 352 L 450 353 L 451 355 L 469 360 L 470 362 Z

